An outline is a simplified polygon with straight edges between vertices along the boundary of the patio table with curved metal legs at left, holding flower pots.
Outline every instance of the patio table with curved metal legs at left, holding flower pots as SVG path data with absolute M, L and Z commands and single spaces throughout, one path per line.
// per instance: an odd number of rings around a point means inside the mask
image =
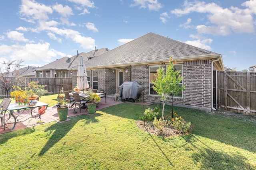
M 29 115 L 33 116 L 32 113 L 36 113 L 38 115 L 35 116 L 36 119 L 40 119 L 41 121 L 41 115 L 42 113 L 44 113 L 44 111 L 47 109 L 49 104 L 46 104 L 44 102 L 40 102 L 40 101 L 37 101 L 36 105 L 34 106 L 28 106 L 28 105 L 18 105 L 17 103 L 11 103 L 9 106 L 8 106 L 8 111 L 9 111 L 9 119 L 11 118 L 11 116 L 14 118 L 14 126 L 11 130 L 14 129 L 15 125 L 16 125 L 16 122 L 19 121 L 18 117 L 24 112 L 24 111 L 29 111 Z M 44 107 L 45 106 L 45 107 Z M 35 108 L 38 108 L 38 111 L 36 111 Z M 40 111 L 39 111 L 40 109 Z M 17 111 L 18 112 L 18 115 L 14 115 L 14 111 Z M 26 116 L 23 116 L 22 118 L 24 117 L 27 117 L 28 115 Z M 21 117 L 21 116 L 20 116 Z M 22 119 L 21 118 L 21 119 Z M 8 120 L 9 120 L 8 119 Z

